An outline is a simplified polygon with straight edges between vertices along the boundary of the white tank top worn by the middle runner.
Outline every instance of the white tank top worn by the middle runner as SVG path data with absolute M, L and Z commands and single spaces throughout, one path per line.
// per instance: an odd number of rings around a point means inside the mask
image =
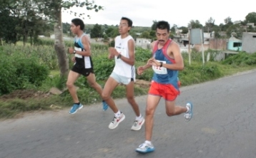
M 126 38 L 121 38 L 121 36 L 117 36 L 114 41 L 114 48 L 117 50 L 117 52 L 121 53 L 122 56 L 126 58 L 129 58 L 128 41 L 130 39 L 134 41 L 132 36 L 127 36 Z M 122 59 L 117 58 L 117 56 L 114 57 L 114 61 L 114 73 L 117 73 L 117 75 L 122 75 L 127 78 L 134 78 L 135 81 L 136 73 L 134 65 L 129 65 L 128 63 L 125 63 Z

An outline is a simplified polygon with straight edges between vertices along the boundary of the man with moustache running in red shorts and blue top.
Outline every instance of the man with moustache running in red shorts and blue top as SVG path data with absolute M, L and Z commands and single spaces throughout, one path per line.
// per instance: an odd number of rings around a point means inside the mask
M 179 45 L 169 38 L 169 23 L 159 21 L 156 29 L 157 41 L 151 43 L 152 58 L 146 65 L 137 68 L 137 73 L 141 75 L 144 70 L 151 68 L 154 70 L 152 84 L 150 85 L 145 120 L 146 141 L 139 145 L 137 152 L 153 152 L 152 131 L 154 123 L 154 111 L 161 98 L 165 100 L 166 113 L 168 116 L 180 115 L 184 113 L 185 120 L 192 118 L 192 103 L 182 107 L 175 105 L 177 95 L 179 95 L 179 70 L 183 70 L 184 63 Z

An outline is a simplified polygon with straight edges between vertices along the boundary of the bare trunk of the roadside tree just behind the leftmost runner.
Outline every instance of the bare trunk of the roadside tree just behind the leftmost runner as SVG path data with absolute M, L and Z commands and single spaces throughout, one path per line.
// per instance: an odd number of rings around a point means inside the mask
M 69 58 L 67 58 L 67 50 L 65 49 L 62 35 L 61 9 L 56 11 L 56 14 L 57 23 L 54 25 L 54 49 L 57 53 L 61 77 L 65 77 L 69 71 Z

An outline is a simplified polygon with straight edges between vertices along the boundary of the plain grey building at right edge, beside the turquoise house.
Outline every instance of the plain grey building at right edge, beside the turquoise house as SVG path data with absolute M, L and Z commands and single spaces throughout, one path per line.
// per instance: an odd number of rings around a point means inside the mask
M 242 33 L 242 51 L 247 53 L 256 52 L 256 33 Z

